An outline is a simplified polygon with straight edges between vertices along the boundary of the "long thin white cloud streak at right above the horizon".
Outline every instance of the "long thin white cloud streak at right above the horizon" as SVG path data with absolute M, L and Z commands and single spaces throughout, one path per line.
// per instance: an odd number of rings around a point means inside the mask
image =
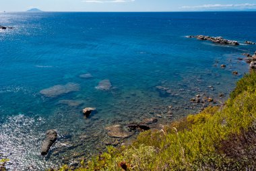
M 254 8 L 254 3 L 242 3 L 242 4 L 209 4 L 198 6 L 183 6 L 183 9 L 220 9 L 220 8 Z

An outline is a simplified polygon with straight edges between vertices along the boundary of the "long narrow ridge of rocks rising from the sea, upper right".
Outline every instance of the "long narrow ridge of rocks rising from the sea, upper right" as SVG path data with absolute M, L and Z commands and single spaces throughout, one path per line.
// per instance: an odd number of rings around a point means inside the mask
M 235 40 L 228 40 L 224 39 L 222 37 L 211 37 L 211 36 L 187 36 L 187 38 L 197 38 L 198 40 L 210 40 L 212 42 L 218 43 L 218 44 L 230 44 L 230 45 L 239 45 L 239 43 Z

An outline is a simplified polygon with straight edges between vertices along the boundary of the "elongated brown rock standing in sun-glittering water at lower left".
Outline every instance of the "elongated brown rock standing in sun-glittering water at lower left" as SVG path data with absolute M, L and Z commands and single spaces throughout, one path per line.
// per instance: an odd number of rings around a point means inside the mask
M 44 139 L 44 142 L 42 143 L 41 147 L 41 155 L 46 155 L 50 149 L 50 147 L 55 143 L 57 140 L 57 131 L 54 129 L 46 131 L 46 138 Z

